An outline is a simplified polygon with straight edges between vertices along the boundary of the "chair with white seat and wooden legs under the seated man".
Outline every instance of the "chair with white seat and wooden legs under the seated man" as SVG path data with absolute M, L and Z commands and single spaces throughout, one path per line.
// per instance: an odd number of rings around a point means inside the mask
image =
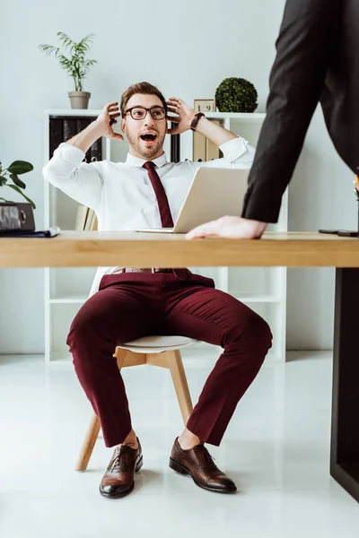
M 193 343 L 197 343 L 197 340 L 185 336 L 145 336 L 134 342 L 118 346 L 113 355 L 117 359 L 119 370 L 139 364 L 150 364 L 151 366 L 170 369 L 185 425 L 193 411 L 193 407 L 180 350 Z M 93 413 L 77 460 L 76 471 L 86 470 L 100 429 L 100 419 Z

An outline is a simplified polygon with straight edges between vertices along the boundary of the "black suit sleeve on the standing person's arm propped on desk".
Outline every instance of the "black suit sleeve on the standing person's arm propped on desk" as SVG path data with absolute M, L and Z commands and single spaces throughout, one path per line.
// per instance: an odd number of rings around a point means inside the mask
M 338 44 L 342 0 L 287 0 L 242 216 L 276 222 Z

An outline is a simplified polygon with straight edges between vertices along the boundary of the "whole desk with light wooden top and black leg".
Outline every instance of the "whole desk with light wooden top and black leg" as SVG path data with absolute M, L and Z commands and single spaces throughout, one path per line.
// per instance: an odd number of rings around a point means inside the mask
M 182 235 L 96 231 L 0 239 L 0 267 L 96 265 L 336 267 L 330 473 L 359 501 L 358 239 L 275 232 L 261 240 L 188 241 Z

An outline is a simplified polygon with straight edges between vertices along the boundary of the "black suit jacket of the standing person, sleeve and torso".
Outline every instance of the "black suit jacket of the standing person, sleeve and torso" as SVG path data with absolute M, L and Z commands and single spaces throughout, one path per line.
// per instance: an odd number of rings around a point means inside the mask
M 337 152 L 359 173 L 359 0 L 287 0 L 243 217 L 277 221 L 319 101 Z

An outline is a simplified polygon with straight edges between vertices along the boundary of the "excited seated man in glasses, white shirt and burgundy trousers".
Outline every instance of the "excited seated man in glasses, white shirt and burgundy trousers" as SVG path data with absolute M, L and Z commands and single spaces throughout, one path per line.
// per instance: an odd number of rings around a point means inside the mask
M 119 116 L 129 143 L 127 161 L 83 162 L 99 137 L 123 140 L 111 126 Z M 169 130 L 167 121 L 178 126 Z M 167 162 L 165 135 L 190 127 L 219 146 L 223 159 Z M 170 227 L 198 166 L 250 168 L 253 155 L 237 134 L 195 115 L 182 100 L 166 101 L 157 88 L 141 82 L 124 92 L 120 113 L 118 103 L 109 103 L 90 126 L 61 143 L 43 173 L 54 186 L 93 208 L 99 230 Z M 97 292 L 74 318 L 67 343 L 77 377 L 100 418 L 105 444 L 115 447 L 101 494 L 117 498 L 133 490 L 143 461 L 112 355 L 117 345 L 156 334 L 179 334 L 223 347 L 187 427 L 174 441 L 170 465 L 206 490 L 235 491 L 204 443 L 219 446 L 236 405 L 257 376 L 271 346 L 267 323 L 239 300 L 215 290 L 213 280 L 187 269 L 101 267 L 92 288 Z

